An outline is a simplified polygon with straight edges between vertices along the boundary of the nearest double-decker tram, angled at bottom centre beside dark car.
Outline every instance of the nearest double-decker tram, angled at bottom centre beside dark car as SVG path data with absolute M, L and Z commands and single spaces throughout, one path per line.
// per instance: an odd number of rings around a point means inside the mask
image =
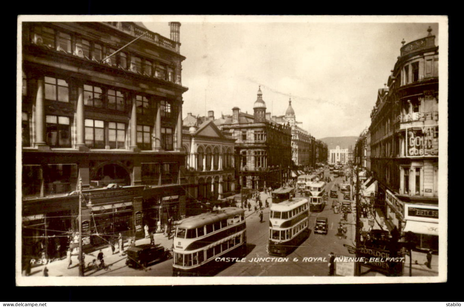
M 232 251 L 244 253 L 245 210 L 225 207 L 182 219 L 173 240 L 174 275 L 202 275 L 200 269 L 216 257 Z

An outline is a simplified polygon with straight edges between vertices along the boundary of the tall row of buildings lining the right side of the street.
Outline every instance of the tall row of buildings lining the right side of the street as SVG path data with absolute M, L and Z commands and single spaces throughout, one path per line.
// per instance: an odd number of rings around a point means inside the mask
M 438 46 L 428 35 L 408 44 L 377 93 L 371 125 L 355 157 L 373 184 L 375 214 L 388 230 L 415 234 L 438 251 Z M 444 188 L 444 187 L 440 187 Z

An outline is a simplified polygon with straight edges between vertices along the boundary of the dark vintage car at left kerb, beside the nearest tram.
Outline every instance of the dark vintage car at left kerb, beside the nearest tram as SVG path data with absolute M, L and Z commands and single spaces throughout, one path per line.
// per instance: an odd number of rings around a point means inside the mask
M 126 264 L 132 268 L 144 269 L 149 264 L 171 258 L 171 252 L 160 244 L 142 244 L 127 249 Z

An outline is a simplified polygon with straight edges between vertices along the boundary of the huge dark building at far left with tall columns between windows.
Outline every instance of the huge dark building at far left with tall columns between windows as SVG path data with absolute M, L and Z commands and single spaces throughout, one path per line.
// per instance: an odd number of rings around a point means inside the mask
M 52 235 L 67 247 L 79 178 L 84 248 L 185 215 L 185 57 L 169 25 L 170 39 L 133 22 L 22 23 L 23 254 Z

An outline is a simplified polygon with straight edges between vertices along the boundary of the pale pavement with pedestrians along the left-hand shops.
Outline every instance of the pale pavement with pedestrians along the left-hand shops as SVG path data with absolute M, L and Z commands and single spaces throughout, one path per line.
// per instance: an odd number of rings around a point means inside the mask
M 269 195 L 265 194 L 264 192 L 260 193 L 260 198 L 263 201 L 263 209 L 265 206 L 265 200 L 269 197 Z M 255 216 L 259 219 L 259 209 L 257 212 L 254 210 L 254 205 L 255 201 L 254 200 L 249 200 L 251 204 L 251 211 L 248 211 L 248 209 L 245 209 L 245 219 L 251 219 L 254 218 Z M 237 203 L 240 206 L 240 203 Z M 163 233 L 156 233 L 155 234 L 155 244 L 160 244 L 163 246 L 165 249 L 171 249 L 173 245 L 173 236 L 174 234 L 171 235 L 170 238 L 165 236 Z M 137 239 L 135 241 L 135 245 L 142 245 L 142 244 L 150 244 L 150 238 L 142 238 L 142 239 Z M 103 247 L 101 250 L 103 251 L 104 255 L 104 262 L 107 268 L 111 269 L 112 267 L 121 267 L 125 265 L 126 262 L 126 254 L 125 250 L 129 248 L 129 242 L 124 242 L 124 247 L 123 251 L 121 252 L 118 248 L 117 245 L 115 246 L 115 253 L 112 254 L 111 248 L 109 246 Z M 97 260 L 97 255 L 98 255 L 99 250 L 93 251 L 90 253 L 84 254 L 84 262 L 85 265 L 87 266 L 88 263 L 91 263 L 92 260 L 96 260 L 97 263 L 100 263 Z M 79 276 L 79 268 L 78 268 L 78 260 L 77 260 L 77 253 L 72 254 L 71 256 L 72 264 L 68 268 L 68 260 L 66 257 L 62 257 L 59 259 L 53 259 L 53 261 L 49 261 L 49 263 L 44 264 L 34 264 L 31 268 L 31 274 L 29 276 L 43 276 L 44 274 L 44 269 L 45 267 L 48 269 L 48 276 Z M 86 269 L 84 270 L 84 276 L 97 276 L 101 272 L 98 271 L 103 271 L 104 269 Z M 23 276 L 25 275 L 25 271 L 23 270 L 22 272 Z

